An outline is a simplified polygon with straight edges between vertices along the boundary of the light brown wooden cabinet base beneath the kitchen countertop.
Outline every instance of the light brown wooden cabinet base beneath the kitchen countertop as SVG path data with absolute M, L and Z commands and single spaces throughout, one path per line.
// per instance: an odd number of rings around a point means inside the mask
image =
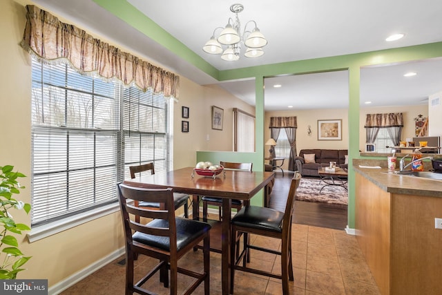
M 442 198 L 390 193 L 356 173 L 356 238 L 381 294 L 442 294 Z

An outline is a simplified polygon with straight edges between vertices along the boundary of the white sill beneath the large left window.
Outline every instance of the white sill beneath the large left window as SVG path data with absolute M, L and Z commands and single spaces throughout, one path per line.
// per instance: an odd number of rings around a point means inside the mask
M 119 211 L 119 204 L 118 202 L 115 202 L 104 207 L 77 214 L 76 216 L 71 216 L 70 218 L 57 220 L 56 222 L 52 222 L 48 225 L 41 225 L 31 229 L 29 234 L 27 234 L 28 240 L 29 242 L 35 242 L 48 236 L 58 234 L 61 231 L 66 231 L 66 229 L 77 227 L 78 225 L 82 225 L 86 222 L 101 218 L 117 211 Z

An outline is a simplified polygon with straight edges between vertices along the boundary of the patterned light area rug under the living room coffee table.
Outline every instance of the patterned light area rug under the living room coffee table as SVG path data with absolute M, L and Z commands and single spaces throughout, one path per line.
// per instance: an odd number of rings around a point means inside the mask
M 301 178 L 296 191 L 296 200 L 307 202 L 322 202 L 328 204 L 348 204 L 347 190 L 340 186 L 325 185 L 319 178 Z

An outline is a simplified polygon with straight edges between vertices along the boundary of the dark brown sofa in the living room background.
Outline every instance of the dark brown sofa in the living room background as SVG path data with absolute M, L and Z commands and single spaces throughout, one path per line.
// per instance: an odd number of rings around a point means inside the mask
M 314 163 L 306 162 L 305 158 L 314 154 Z M 345 155 L 348 154 L 346 149 L 302 149 L 299 151 L 298 157 L 295 158 L 296 169 L 300 171 L 302 176 L 319 176 L 318 168 L 329 166 L 330 162 L 336 162 L 336 166 L 347 168 L 345 164 Z

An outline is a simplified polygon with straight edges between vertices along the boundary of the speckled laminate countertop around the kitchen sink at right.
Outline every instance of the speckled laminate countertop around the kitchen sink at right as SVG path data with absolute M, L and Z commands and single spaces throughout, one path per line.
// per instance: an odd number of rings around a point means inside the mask
M 353 169 L 388 193 L 442 198 L 442 180 L 430 180 L 407 175 L 395 175 L 385 167 L 361 168 L 353 163 Z M 367 165 L 364 163 L 361 165 Z

